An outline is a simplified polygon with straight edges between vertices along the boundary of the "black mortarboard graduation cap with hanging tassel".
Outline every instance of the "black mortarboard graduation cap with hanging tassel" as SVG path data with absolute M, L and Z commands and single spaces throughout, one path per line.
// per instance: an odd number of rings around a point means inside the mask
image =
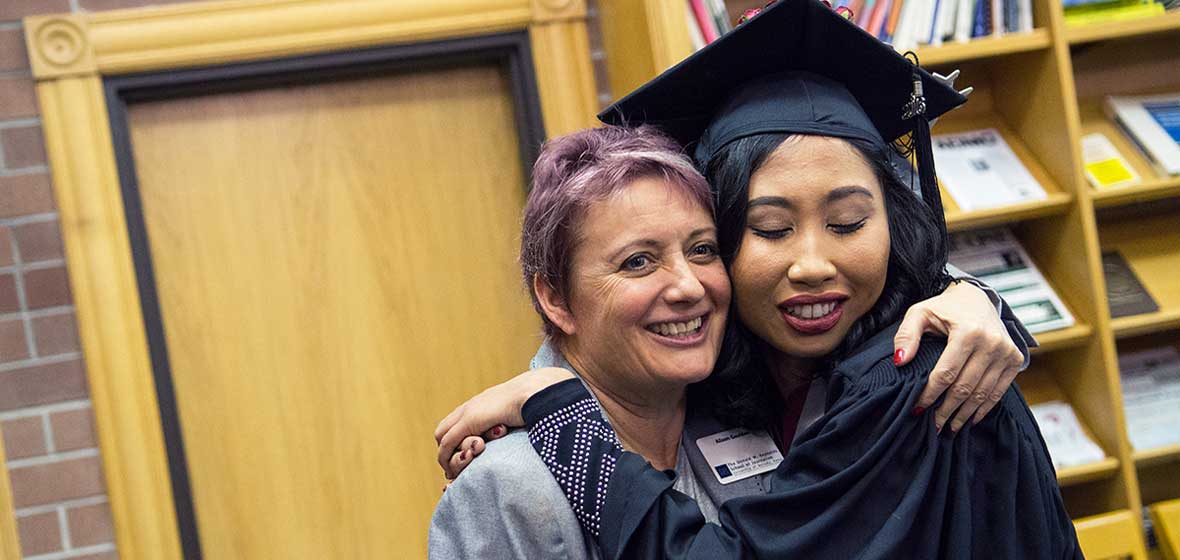
M 598 118 L 656 126 L 691 150 L 699 165 L 760 133 L 876 145 L 912 134 L 923 199 L 945 231 L 929 121 L 964 103 L 965 95 L 825 4 L 779 0 Z

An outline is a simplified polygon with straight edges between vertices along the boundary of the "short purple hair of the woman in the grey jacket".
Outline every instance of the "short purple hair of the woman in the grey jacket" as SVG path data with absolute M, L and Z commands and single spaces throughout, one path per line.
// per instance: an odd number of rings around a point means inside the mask
M 539 277 L 563 298 L 577 229 L 586 209 L 636 179 L 656 177 L 683 189 L 684 196 L 713 215 L 709 184 L 671 138 L 650 126 L 603 126 L 553 138 L 532 166 L 532 190 L 520 231 L 520 269 L 545 334 L 559 332 L 537 302 Z

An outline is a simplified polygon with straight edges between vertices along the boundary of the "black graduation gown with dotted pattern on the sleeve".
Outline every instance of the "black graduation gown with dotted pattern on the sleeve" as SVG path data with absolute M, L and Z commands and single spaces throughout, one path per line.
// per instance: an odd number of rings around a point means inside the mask
M 898 369 L 896 330 L 837 365 L 827 413 L 795 439 L 771 493 L 725 502 L 720 526 L 671 489 L 670 472 L 622 450 L 581 383 L 533 396 L 525 422 L 607 558 L 1082 558 L 1020 391 L 939 435 L 932 411 L 910 411 L 944 342 L 924 341 Z

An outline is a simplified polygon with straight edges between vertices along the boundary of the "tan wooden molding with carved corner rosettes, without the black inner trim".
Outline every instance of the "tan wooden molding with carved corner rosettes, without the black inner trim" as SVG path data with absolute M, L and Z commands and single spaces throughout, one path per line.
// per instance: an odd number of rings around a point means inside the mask
M 225 0 L 25 26 L 122 558 L 182 553 L 104 78 L 527 32 L 548 133 L 597 110 L 584 0 Z

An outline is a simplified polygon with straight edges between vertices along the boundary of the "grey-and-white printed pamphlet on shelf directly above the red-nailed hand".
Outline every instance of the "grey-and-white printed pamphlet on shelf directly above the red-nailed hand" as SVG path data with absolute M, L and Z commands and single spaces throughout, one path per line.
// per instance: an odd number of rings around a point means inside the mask
M 1074 316 L 1007 228 L 950 237 L 950 262 L 995 289 L 1029 332 L 1074 324 Z

